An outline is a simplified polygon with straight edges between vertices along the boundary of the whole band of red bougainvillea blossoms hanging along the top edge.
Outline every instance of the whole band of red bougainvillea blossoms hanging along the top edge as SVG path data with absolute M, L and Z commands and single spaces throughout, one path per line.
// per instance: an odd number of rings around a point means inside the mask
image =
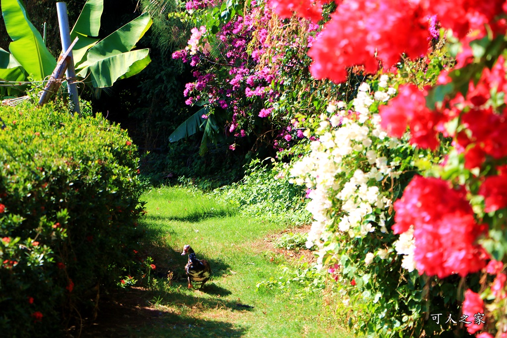
M 322 0 L 272 0 L 271 6 L 282 18 L 296 12 L 300 17 L 318 22 L 323 3 Z M 475 33 L 473 39 L 483 37 L 485 24 L 495 32 L 504 32 L 505 20 L 496 21 L 503 12 L 503 3 L 504 0 L 345 0 L 338 4 L 308 53 L 314 61 L 312 75 L 343 82 L 346 69 L 353 65 L 363 65 L 366 72 L 375 72 L 376 57 L 384 67 L 390 67 L 400 60 L 402 53 L 409 58 L 426 54 L 430 36 L 427 18 L 435 14 L 441 25 L 451 28 L 462 42 L 472 39 L 466 36 L 470 30 Z M 471 53 L 471 49 L 465 48 L 464 56 L 458 59 Z

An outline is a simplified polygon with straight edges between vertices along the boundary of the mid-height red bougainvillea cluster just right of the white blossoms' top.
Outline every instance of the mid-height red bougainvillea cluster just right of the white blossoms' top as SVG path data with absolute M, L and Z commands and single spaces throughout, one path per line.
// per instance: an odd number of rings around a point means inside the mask
M 381 127 L 389 136 L 402 137 L 410 126 L 410 143 L 430 149 L 439 146 L 438 130 L 446 119 L 440 112 L 426 107 L 426 94 L 415 85 L 403 85 L 388 105 L 379 107 Z

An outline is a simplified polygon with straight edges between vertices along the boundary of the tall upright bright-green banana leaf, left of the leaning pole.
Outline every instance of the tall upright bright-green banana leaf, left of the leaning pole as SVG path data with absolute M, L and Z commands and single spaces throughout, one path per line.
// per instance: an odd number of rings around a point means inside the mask
M 9 50 L 14 58 L 36 81 L 51 75 L 56 60 L 44 45 L 41 33 L 28 20 L 22 3 L 2 0 L 1 5 L 7 33 L 13 40 Z

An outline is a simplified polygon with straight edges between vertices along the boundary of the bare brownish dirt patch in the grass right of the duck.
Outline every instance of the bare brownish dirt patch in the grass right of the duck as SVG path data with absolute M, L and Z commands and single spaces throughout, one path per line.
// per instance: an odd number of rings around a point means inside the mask
M 270 234 L 265 238 L 258 240 L 252 243 L 252 247 L 255 251 L 259 253 L 272 253 L 270 256 L 270 261 L 277 260 L 277 257 L 283 256 L 289 262 L 308 262 L 312 263 L 316 261 L 315 256 L 313 255 L 313 251 L 308 249 L 296 249 L 296 250 L 286 250 L 282 248 L 275 247 L 276 241 L 284 234 L 289 233 L 308 233 L 310 231 L 311 225 L 307 224 L 305 226 L 299 228 L 290 228 L 285 229 L 279 233 Z M 277 261 L 278 262 L 278 261 Z

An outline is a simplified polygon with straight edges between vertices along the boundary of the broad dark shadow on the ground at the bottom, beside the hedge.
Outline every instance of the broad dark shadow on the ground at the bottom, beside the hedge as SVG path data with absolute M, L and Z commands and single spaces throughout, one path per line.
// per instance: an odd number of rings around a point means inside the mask
M 231 302 L 222 302 L 220 298 L 201 297 L 198 291 L 192 294 L 174 291 L 161 293 L 132 288 L 110 295 L 101 303 L 95 322 L 87 324 L 81 336 L 234 338 L 246 333 L 246 328 L 227 322 L 225 316 L 223 321 L 202 319 L 196 316 L 199 312 L 209 309 L 227 309 L 228 311 L 245 309 Z M 155 298 L 161 306 L 154 305 Z M 171 311 L 167 311 L 168 308 Z M 177 313 L 172 309 L 175 309 Z

